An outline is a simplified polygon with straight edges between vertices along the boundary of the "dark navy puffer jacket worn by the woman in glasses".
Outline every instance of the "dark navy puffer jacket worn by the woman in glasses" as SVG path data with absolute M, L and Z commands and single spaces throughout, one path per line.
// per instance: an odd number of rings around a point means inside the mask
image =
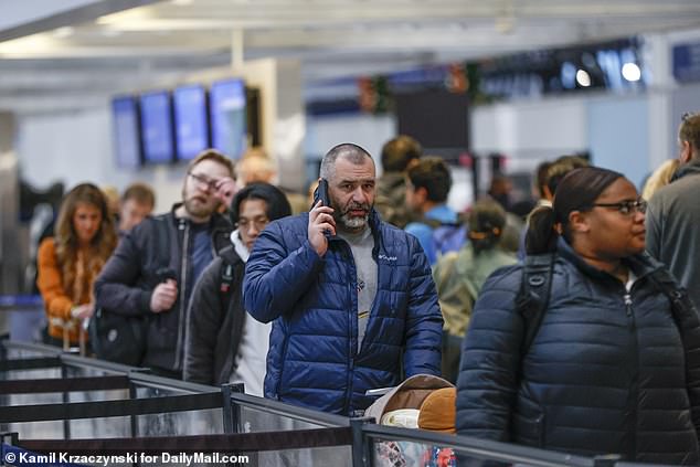
M 697 465 L 697 316 L 683 327 L 685 352 L 670 301 L 649 279 L 660 263 L 628 258 L 637 279 L 627 294 L 561 238 L 558 250 L 549 308 L 524 358 L 515 308 L 522 266 L 497 270 L 481 289 L 457 382 L 458 433 L 584 456 Z

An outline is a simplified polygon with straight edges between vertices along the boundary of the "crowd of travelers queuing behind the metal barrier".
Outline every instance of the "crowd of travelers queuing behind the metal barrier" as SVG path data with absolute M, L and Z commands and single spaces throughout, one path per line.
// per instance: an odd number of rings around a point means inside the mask
M 427 378 L 452 394 L 439 431 L 698 465 L 699 114 L 679 145 L 639 190 L 543 161 L 526 216 L 503 174 L 449 208 L 449 167 L 409 136 L 379 178 L 362 147 L 331 148 L 308 200 L 259 151 L 205 150 L 163 214 L 142 183 L 112 209 L 82 183 L 39 248 L 45 339 L 348 416 Z

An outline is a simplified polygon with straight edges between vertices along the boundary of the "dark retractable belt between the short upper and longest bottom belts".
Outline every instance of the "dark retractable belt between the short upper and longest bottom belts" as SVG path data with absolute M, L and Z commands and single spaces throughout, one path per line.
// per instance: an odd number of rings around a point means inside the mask
M 0 407 L 3 423 L 49 422 L 56 420 L 102 418 L 146 415 L 163 412 L 187 412 L 221 408 L 221 392 L 170 395 L 123 401 L 72 402 L 67 404 L 33 404 Z

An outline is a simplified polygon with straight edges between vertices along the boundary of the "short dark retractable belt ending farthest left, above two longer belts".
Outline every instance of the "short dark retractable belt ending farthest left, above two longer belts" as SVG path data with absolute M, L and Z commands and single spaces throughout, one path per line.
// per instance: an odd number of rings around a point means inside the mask
M 0 381 L 0 394 L 107 391 L 128 388 L 129 378 L 124 375 Z

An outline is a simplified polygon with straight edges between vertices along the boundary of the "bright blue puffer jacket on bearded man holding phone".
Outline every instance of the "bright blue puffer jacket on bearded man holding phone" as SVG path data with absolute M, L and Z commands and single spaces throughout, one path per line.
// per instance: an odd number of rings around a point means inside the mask
M 246 264 L 245 308 L 273 323 L 265 396 L 337 414 L 367 408 L 369 389 L 439 374 L 443 318 L 431 267 L 417 241 L 370 217 L 376 296 L 360 352 L 356 267 L 350 245 L 331 237 L 319 257 L 308 214 L 271 223 Z M 277 319 L 279 318 L 279 319 Z

